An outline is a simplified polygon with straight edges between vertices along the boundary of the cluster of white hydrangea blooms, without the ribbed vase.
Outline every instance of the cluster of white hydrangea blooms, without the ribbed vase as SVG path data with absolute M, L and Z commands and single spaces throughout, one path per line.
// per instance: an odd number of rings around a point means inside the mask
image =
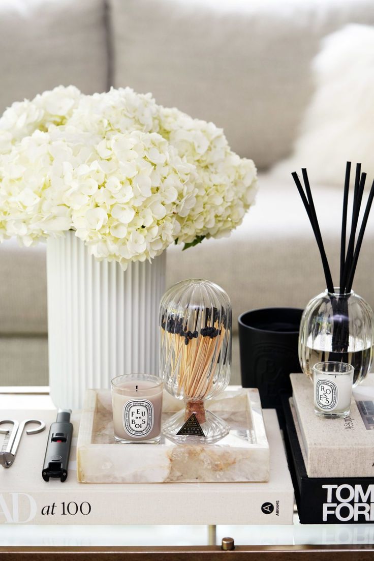
M 0 241 L 74 230 L 96 259 L 150 260 L 241 223 L 256 168 L 213 123 L 132 89 L 59 86 L 0 118 Z

